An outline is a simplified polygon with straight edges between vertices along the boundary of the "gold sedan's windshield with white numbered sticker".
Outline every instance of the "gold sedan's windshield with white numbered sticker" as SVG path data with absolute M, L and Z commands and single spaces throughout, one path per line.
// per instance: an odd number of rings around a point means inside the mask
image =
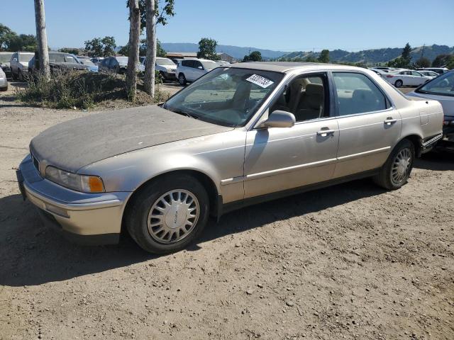
M 164 108 L 223 126 L 242 126 L 271 94 L 284 74 L 218 68 L 170 98 Z

